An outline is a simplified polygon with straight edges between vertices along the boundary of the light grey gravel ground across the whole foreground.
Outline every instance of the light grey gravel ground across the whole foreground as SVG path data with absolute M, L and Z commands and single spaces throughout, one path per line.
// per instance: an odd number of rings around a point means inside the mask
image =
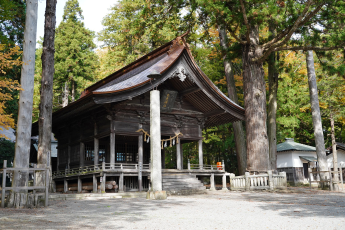
M 345 229 L 345 193 L 306 188 L 49 204 L 0 208 L 0 229 Z

